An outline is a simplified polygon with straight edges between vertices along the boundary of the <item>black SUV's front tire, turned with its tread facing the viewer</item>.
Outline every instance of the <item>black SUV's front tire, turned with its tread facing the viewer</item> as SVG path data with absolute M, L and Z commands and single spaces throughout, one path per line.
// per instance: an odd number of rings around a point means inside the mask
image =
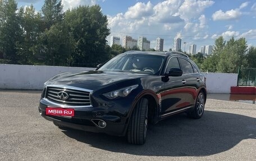
M 127 129 L 127 141 L 130 144 L 143 145 L 148 130 L 148 99 L 141 98 L 131 114 Z

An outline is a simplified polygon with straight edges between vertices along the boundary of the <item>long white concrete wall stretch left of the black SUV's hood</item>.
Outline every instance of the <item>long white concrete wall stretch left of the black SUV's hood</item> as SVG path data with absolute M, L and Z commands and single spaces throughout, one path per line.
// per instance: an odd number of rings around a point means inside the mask
M 89 70 L 94 68 L 0 64 L 0 89 L 41 90 L 44 82 L 57 73 Z

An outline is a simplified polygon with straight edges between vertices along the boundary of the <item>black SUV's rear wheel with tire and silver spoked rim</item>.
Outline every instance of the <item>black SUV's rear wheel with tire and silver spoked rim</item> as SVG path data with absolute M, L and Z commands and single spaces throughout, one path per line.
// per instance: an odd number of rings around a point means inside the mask
M 188 116 L 195 119 L 201 118 L 204 113 L 204 105 L 205 105 L 205 96 L 203 91 L 200 91 L 200 93 L 196 98 L 195 107 L 193 111 L 188 113 Z

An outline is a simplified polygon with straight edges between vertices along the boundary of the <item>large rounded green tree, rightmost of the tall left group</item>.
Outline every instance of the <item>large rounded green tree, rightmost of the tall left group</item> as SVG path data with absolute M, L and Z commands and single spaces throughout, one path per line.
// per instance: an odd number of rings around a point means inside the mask
M 105 51 L 107 36 L 107 16 L 96 6 L 79 6 L 67 10 L 64 18 L 65 25 L 72 33 L 75 50 L 72 53 L 74 66 L 95 66 L 109 58 Z

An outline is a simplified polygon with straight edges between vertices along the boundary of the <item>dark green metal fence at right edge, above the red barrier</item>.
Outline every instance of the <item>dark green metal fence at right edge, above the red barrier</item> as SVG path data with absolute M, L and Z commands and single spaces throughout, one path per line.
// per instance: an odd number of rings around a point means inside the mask
M 256 86 L 256 68 L 239 68 L 237 86 Z

